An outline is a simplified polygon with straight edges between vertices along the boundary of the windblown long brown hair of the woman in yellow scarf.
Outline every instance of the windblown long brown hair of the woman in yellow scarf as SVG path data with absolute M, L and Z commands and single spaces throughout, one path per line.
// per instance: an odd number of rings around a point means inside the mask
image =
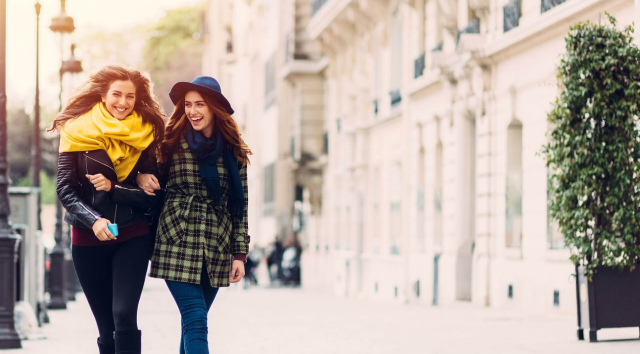
M 158 100 L 151 91 L 151 81 L 138 70 L 121 66 L 105 66 L 93 73 L 87 82 L 82 84 L 69 98 L 62 112 L 58 113 L 48 131 L 60 130 L 70 119 L 89 112 L 93 106 L 102 102 L 109 87 L 114 81 L 131 81 L 136 87 L 136 103 L 133 109 L 142 116 L 145 122 L 153 125 L 153 144 L 150 149 L 156 152 L 164 139 L 164 113 Z

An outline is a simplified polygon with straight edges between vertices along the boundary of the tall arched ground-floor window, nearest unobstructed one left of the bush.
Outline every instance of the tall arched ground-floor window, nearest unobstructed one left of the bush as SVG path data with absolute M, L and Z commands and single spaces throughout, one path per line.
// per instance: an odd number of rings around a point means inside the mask
M 522 123 L 507 129 L 506 246 L 522 246 Z

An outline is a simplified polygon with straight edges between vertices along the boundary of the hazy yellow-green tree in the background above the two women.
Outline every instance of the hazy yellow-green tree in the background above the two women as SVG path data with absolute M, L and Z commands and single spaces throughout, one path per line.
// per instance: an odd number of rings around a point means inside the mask
M 145 69 L 154 82 L 154 92 L 165 112 L 173 110 L 171 87 L 191 81 L 202 72 L 204 5 L 168 10 L 149 28 L 143 49 Z

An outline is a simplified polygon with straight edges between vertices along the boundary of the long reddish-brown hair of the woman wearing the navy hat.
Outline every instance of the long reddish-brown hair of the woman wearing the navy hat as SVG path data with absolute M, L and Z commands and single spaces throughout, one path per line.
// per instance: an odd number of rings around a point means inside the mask
M 240 137 L 240 129 L 238 129 L 238 124 L 235 119 L 233 119 L 229 112 L 222 108 L 218 102 L 211 98 L 211 96 L 200 91 L 198 91 L 198 93 L 213 112 L 214 129 L 220 131 L 224 140 L 229 144 L 229 148 L 233 151 L 236 160 L 243 165 L 249 164 L 249 155 L 251 155 L 252 152 Z M 173 109 L 173 113 L 171 117 L 169 117 L 169 121 L 165 127 L 164 140 L 160 145 L 160 154 L 158 156 L 160 162 L 169 161 L 173 149 L 180 141 L 180 137 L 189 124 L 191 123 L 185 114 L 184 97 L 182 97 Z

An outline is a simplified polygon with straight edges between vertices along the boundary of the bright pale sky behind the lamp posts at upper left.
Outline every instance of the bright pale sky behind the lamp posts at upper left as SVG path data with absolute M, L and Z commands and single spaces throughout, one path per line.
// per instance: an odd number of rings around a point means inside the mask
M 66 35 L 64 47 L 86 31 L 116 31 L 154 22 L 167 9 L 192 5 L 201 0 L 67 0 L 66 12 L 76 30 Z M 36 68 L 36 0 L 7 0 L 7 104 L 33 110 Z M 60 0 L 40 0 L 40 102 L 58 107 L 60 38 L 49 29 L 60 12 Z M 0 10 L 2 11 L 2 10 Z M 65 59 L 68 57 L 65 53 Z M 82 60 L 82 57 L 78 57 Z

